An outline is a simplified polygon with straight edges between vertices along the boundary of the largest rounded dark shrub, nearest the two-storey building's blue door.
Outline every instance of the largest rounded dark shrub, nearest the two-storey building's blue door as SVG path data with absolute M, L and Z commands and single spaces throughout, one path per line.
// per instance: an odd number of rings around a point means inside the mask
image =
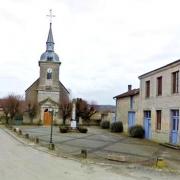
M 135 125 L 129 128 L 129 135 L 135 138 L 144 138 L 144 128 L 141 125 Z

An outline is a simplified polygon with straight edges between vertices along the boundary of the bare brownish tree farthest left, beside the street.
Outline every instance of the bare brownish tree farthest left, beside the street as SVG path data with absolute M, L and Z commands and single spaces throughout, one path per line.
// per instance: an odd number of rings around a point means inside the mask
M 10 94 L 3 98 L 2 108 L 6 118 L 6 124 L 9 124 L 9 118 L 12 121 L 15 115 L 22 114 L 22 96 Z

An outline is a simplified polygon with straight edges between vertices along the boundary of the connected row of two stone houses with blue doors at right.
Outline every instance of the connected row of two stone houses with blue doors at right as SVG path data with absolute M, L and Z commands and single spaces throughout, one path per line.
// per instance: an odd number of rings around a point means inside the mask
M 180 60 L 139 76 L 140 89 L 115 96 L 116 120 L 124 131 L 135 124 L 145 129 L 145 138 L 180 144 Z

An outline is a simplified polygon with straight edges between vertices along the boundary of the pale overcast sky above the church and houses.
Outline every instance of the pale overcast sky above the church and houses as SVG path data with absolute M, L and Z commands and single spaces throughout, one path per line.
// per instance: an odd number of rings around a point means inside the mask
M 0 0 L 0 97 L 39 77 L 49 9 L 60 80 L 72 97 L 115 104 L 138 76 L 180 58 L 179 0 Z

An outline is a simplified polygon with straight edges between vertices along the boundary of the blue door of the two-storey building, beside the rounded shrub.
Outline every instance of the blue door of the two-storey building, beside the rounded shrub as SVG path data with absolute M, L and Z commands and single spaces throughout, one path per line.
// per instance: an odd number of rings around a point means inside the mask
M 145 138 L 151 139 L 151 111 L 144 111 Z

